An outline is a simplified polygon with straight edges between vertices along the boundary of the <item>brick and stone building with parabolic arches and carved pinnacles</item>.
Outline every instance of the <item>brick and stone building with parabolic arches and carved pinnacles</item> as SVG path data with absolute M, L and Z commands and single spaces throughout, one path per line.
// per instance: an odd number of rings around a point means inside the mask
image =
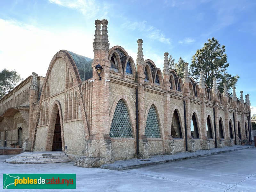
M 244 101 L 241 91 L 238 100 L 233 88 L 229 97 L 226 84 L 220 93 L 216 79 L 209 89 L 203 71 L 197 84 L 188 76 L 188 63 L 181 79 L 169 70 L 167 52 L 163 70 L 156 68 L 152 60 L 144 59 L 141 39 L 135 62 L 121 46 L 109 49 L 107 20 L 96 20 L 95 25 L 93 59 L 61 50 L 53 56 L 45 78 L 28 77 L 32 81 L 23 150 L 65 151 L 76 165 L 90 167 L 240 145 L 250 138 L 249 95 Z M 18 94 L 14 92 L 0 100 L 1 140 L 5 130 L 10 134 L 9 129 L 20 126 L 8 124 L 16 116 L 14 109 L 8 113 L 12 109 L 4 107 L 6 98 Z M 22 116 L 18 106 L 12 108 Z

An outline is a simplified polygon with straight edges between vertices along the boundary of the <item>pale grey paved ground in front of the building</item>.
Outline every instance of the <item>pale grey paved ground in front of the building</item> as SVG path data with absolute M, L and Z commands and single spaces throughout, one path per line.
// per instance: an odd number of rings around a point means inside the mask
M 76 173 L 76 189 L 3 189 L 0 191 L 188 191 L 256 192 L 256 148 L 114 171 L 70 163 L 8 164 L 0 155 L 1 173 Z

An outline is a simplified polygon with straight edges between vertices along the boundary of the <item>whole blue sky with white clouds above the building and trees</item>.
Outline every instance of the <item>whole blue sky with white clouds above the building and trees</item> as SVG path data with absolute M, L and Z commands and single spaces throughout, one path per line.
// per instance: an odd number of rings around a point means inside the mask
M 250 94 L 256 113 L 256 1 L 254 0 L 0 0 L 0 70 L 22 78 L 45 76 L 56 52 L 93 58 L 94 21 L 108 20 L 110 47 L 122 46 L 133 60 L 137 39 L 144 59 L 163 68 L 164 52 L 189 64 L 215 37 L 226 46 L 228 73 L 240 76 L 236 94 Z M 253 83 L 254 82 L 254 83 Z

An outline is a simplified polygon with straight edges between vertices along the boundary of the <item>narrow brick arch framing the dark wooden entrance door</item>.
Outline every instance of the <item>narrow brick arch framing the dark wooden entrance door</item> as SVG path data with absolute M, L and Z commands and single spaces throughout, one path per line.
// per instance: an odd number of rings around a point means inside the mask
M 60 113 L 60 130 L 61 130 L 61 141 L 62 141 L 62 151 L 65 151 L 65 141 L 64 141 L 64 129 L 63 129 L 63 114 L 62 114 L 62 108 L 60 105 L 60 101 L 55 100 L 52 104 L 52 110 L 50 114 L 50 120 L 47 128 L 47 136 L 46 136 L 46 144 L 45 144 L 45 150 L 51 151 L 52 150 L 52 141 L 53 141 L 53 135 L 54 135 L 54 129 L 55 129 L 55 122 L 57 118 L 58 111 Z

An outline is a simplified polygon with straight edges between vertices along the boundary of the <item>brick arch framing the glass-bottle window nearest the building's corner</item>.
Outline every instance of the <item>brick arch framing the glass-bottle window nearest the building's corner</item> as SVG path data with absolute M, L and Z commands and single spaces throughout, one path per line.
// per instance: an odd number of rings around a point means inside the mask
M 126 107 L 128 108 L 128 113 L 129 113 L 130 121 L 131 121 L 131 125 L 132 125 L 133 138 L 136 138 L 136 124 L 135 124 L 136 118 L 135 118 L 135 115 L 133 113 L 132 104 L 131 104 L 129 98 L 126 95 L 118 95 L 118 96 L 116 96 L 115 100 L 113 101 L 112 107 L 110 109 L 109 117 L 108 117 L 109 122 L 111 122 L 108 125 L 108 133 L 110 132 L 112 119 L 113 119 L 113 116 L 114 116 L 114 113 L 115 113 L 115 110 L 116 110 L 116 105 L 117 105 L 119 100 L 124 100 L 124 102 L 126 104 Z

